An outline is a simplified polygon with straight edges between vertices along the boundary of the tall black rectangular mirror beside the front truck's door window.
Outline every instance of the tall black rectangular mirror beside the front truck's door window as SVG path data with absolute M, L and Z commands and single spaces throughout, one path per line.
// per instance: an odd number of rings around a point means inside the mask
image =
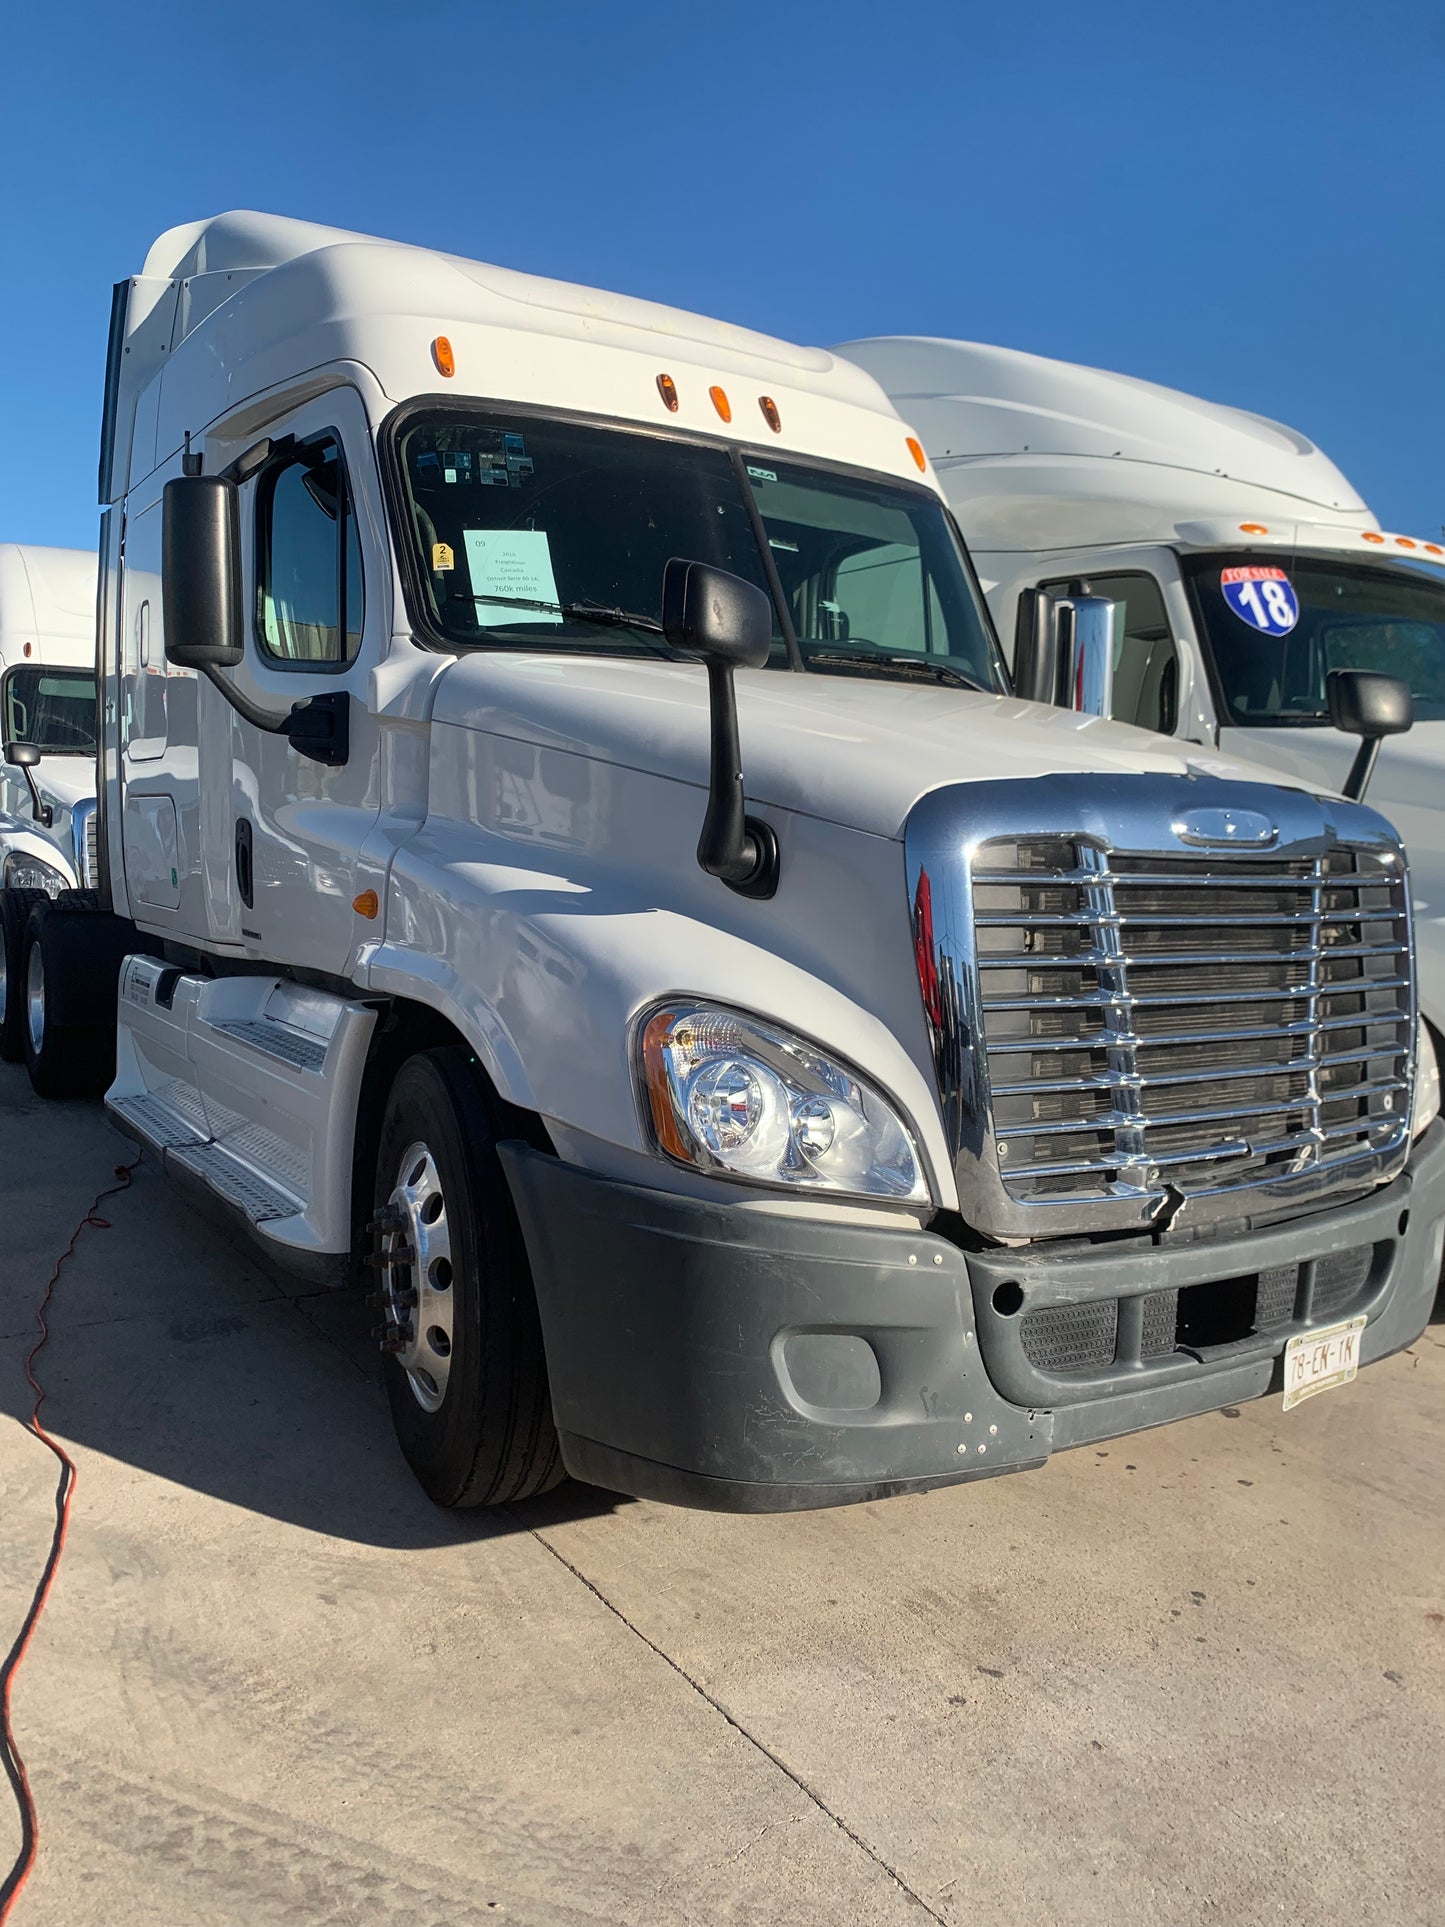
M 177 669 L 235 669 L 241 661 L 241 509 L 225 476 L 166 484 L 160 599 L 166 659 Z

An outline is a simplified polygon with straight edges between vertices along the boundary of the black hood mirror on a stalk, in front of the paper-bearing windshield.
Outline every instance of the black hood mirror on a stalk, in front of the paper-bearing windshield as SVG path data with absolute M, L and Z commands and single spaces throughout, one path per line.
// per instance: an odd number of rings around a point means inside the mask
M 773 896 L 778 886 L 778 838 L 744 809 L 742 752 L 734 669 L 761 669 L 773 646 L 767 595 L 709 563 L 674 557 L 663 570 L 663 634 L 674 649 L 707 665 L 711 765 L 707 815 L 697 861 L 742 896 Z

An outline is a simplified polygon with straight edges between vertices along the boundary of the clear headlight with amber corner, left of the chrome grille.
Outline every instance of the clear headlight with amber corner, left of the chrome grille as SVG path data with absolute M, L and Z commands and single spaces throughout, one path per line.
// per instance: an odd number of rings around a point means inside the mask
M 642 1029 L 657 1143 L 696 1170 L 761 1185 L 927 1204 L 913 1137 L 888 1098 L 817 1044 L 715 1004 Z

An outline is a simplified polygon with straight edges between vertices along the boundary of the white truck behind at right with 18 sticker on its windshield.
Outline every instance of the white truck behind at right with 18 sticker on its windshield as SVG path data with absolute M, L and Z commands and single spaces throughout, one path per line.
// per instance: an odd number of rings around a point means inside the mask
M 1015 667 L 1035 594 L 1083 580 L 1117 611 L 1108 715 L 1327 790 L 1356 753 L 1331 723 L 1329 673 L 1410 684 L 1414 726 L 1381 746 L 1370 802 L 1410 856 L 1420 1002 L 1439 1039 L 1445 541 L 1381 530 L 1322 449 L 1241 409 L 977 341 L 884 335 L 836 353 L 923 437 Z

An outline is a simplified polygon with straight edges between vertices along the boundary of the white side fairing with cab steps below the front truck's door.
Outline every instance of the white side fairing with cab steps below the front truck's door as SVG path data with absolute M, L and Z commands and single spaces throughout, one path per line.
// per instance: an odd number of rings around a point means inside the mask
M 281 1264 L 351 1254 L 351 1152 L 376 1004 L 283 977 L 125 960 L 106 1108 Z

